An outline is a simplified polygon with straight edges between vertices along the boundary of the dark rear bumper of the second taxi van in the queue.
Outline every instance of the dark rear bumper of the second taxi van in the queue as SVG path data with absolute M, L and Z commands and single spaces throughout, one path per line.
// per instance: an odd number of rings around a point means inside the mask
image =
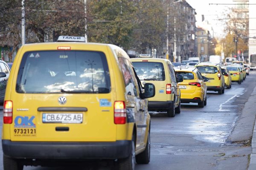
M 166 111 L 172 109 L 174 101 L 148 101 L 148 111 Z

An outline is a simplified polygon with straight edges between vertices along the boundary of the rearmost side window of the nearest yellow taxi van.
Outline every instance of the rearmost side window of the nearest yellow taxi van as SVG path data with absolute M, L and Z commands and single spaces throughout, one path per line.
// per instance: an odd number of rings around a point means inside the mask
M 118 60 L 120 62 L 123 78 L 125 80 L 126 94 L 132 95 L 132 96 L 138 96 L 137 88 L 134 80 L 135 76 L 133 74 L 131 65 L 129 64 L 129 61 L 122 57 L 118 57 Z

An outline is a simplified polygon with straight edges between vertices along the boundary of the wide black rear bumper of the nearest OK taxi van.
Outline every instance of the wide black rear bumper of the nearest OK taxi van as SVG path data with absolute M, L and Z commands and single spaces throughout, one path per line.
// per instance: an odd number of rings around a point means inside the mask
M 16 159 L 121 159 L 131 141 L 116 142 L 12 142 L 2 140 L 5 156 Z

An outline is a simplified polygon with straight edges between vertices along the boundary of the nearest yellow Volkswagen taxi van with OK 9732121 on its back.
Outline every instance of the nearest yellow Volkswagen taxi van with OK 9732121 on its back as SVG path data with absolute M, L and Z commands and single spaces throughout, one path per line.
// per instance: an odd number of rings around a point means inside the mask
M 84 37 L 23 45 L 3 108 L 3 167 L 111 159 L 134 170 L 150 161 L 148 97 L 128 54 Z M 81 41 L 81 42 L 68 42 Z

